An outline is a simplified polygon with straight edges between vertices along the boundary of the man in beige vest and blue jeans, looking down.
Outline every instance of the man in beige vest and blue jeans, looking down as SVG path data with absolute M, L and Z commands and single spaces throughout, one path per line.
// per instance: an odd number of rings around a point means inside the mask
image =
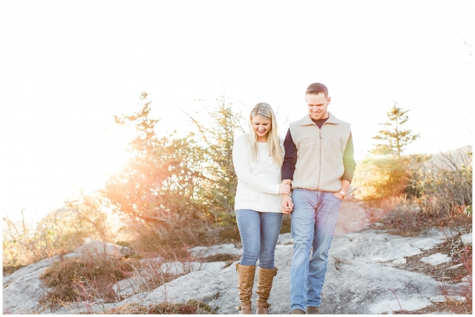
M 328 249 L 356 163 L 349 123 L 327 110 L 328 88 L 311 84 L 305 100 L 309 113 L 284 140 L 282 183 L 293 193 L 282 196 L 282 211 L 292 212 L 291 314 L 320 314 Z

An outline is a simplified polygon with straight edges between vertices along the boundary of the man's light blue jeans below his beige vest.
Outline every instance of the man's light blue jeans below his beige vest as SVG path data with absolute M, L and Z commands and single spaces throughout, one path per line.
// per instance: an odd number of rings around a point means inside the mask
M 297 188 L 292 202 L 291 310 L 305 311 L 307 306 L 320 306 L 328 249 L 342 201 L 331 192 Z

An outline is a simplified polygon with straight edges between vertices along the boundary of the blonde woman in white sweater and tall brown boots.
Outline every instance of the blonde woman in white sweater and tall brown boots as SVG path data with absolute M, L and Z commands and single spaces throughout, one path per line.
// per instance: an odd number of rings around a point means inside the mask
M 233 146 L 233 163 L 238 176 L 235 213 L 242 241 L 238 271 L 239 314 L 251 314 L 251 295 L 256 262 L 256 314 L 268 314 L 267 300 L 272 279 L 277 275 L 274 252 L 282 225 L 280 194 L 290 186 L 280 183 L 283 140 L 279 138 L 275 114 L 270 105 L 258 103 L 251 110 L 249 131 Z

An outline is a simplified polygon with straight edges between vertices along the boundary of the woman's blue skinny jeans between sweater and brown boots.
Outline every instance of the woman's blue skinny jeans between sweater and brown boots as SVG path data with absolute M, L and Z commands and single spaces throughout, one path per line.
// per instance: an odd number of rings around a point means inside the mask
M 279 231 L 282 226 L 282 213 L 258 212 L 250 209 L 236 210 L 239 233 L 242 242 L 242 265 L 256 265 L 259 259 L 261 268 L 273 269 L 274 253 Z

